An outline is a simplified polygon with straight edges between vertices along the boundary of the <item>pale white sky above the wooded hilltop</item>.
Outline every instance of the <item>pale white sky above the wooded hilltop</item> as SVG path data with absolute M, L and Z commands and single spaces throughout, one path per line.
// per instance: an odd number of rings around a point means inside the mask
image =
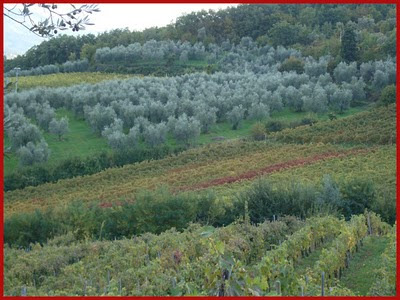
M 116 28 L 128 28 L 130 30 L 143 30 L 150 27 L 162 27 L 176 20 L 177 17 L 193 11 L 219 10 L 236 4 L 99 4 L 100 12 L 90 15 L 93 26 L 87 26 L 85 31 L 79 34 L 97 34 Z M 70 5 L 58 4 L 60 10 L 70 9 Z M 13 4 L 5 7 L 12 8 Z M 18 7 L 17 7 L 18 8 Z M 43 8 L 33 10 L 35 20 L 46 16 Z M 43 38 L 31 33 L 22 25 L 4 17 L 4 54 L 12 58 L 23 54 L 34 45 L 40 44 Z M 64 34 L 78 35 L 71 30 Z

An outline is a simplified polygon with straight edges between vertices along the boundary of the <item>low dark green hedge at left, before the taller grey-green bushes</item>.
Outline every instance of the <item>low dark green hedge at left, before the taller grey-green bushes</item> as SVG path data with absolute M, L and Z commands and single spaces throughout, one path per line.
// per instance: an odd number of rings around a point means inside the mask
M 224 212 L 216 208 L 212 194 L 173 195 L 166 190 L 143 192 L 134 202 L 74 201 L 66 208 L 45 213 L 14 214 L 4 223 L 4 242 L 28 247 L 65 232 L 73 232 L 77 240 L 111 240 L 145 232 L 158 234 L 172 227 L 183 230 L 195 221 L 214 224 Z

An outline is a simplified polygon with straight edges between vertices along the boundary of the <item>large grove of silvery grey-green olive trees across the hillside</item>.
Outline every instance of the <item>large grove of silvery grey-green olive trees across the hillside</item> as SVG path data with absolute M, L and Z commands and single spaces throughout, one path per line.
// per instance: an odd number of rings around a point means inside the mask
M 55 109 L 65 107 L 84 117 L 93 132 L 105 136 L 115 149 L 134 146 L 139 134 L 153 147 L 164 143 L 168 132 L 178 141 L 190 143 L 216 122 L 228 121 L 237 129 L 243 119 L 262 120 L 285 107 L 341 113 L 352 103 L 365 101 L 371 90 L 379 93 L 396 78 L 392 60 L 362 64 L 359 69 L 355 63 L 340 63 L 334 79 L 326 72 L 326 65 L 324 59 L 309 59 L 303 74 L 274 68 L 263 75 L 198 73 L 38 88 L 9 93 L 5 104 L 6 109 L 14 107 L 9 109 L 11 119 L 18 112 L 45 131 L 51 127 L 59 136 L 66 131 L 66 121 L 62 126 L 53 121 Z M 56 129 L 60 126 L 63 129 Z

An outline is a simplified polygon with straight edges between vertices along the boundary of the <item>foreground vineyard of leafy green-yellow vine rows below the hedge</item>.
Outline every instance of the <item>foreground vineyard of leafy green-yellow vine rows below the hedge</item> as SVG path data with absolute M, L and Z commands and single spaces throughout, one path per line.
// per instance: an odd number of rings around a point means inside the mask
M 351 269 L 368 231 L 395 233 L 367 213 L 347 222 L 284 217 L 255 226 L 244 219 L 224 228 L 192 225 L 133 240 L 88 243 L 65 235 L 28 253 L 6 247 L 5 294 L 311 296 L 321 295 L 323 286 L 325 295 L 349 295 L 341 274 Z M 298 269 L 321 249 L 315 263 Z M 385 254 L 393 257 L 393 251 L 388 246 Z M 376 281 L 394 286 L 390 275 L 380 272 Z

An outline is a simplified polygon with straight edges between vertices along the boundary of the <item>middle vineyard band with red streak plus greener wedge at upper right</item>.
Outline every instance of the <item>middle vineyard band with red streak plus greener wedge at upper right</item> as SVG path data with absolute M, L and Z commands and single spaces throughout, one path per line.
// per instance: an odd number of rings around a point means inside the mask
M 385 141 L 393 143 L 396 136 L 395 106 L 344 118 L 346 126 L 339 121 L 342 120 L 285 130 L 275 137 L 287 140 L 288 134 L 293 132 L 293 136 L 302 139 L 302 142 L 307 142 L 310 136 L 318 141 L 316 132 L 320 132 L 320 137 L 325 137 L 324 133 L 334 136 L 332 130 L 345 129 L 347 133 L 358 131 L 357 136 L 362 143 L 353 143 L 352 146 L 348 143 L 322 142 L 300 145 L 232 140 L 206 145 L 162 160 L 6 192 L 5 216 L 14 212 L 63 206 L 78 199 L 86 202 L 119 202 L 134 199 L 138 191 L 160 186 L 166 186 L 173 192 L 212 189 L 221 197 L 233 197 L 259 177 L 267 177 L 274 182 L 296 178 L 317 183 L 324 174 L 330 174 L 339 181 L 353 177 L 371 180 L 377 185 L 379 197 L 394 199 L 396 147 L 393 144 L 378 145 L 383 140 L 376 140 L 375 137 L 390 137 Z M 361 126 L 360 122 L 367 125 Z

